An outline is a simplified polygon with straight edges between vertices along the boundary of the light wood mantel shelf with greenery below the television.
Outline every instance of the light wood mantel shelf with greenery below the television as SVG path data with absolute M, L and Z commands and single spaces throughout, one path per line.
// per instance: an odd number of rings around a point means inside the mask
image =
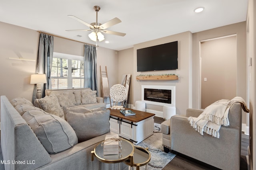
M 136 80 L 178 80 L 177 74 L 140 74 Z

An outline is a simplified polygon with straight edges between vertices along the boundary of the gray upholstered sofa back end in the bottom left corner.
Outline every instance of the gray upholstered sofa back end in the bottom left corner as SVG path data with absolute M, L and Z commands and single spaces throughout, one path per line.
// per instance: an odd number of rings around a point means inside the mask
M 5 169 L 36 169 L 52 161 L 28 123 L 10 104 L 6 96 L 1 96 L 1 147 L 3 159 L 25 161 L 32 164 L 5 164 Z

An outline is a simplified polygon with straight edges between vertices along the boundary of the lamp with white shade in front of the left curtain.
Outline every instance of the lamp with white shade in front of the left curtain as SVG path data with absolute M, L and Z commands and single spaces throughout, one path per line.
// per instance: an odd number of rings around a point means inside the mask
M 41 84 L 46 83 L 45 74 L 32 74 L 30 78 L 30 84 L 36 84 L 37 94 L 36 97 L 40 99 L 42 97 Z

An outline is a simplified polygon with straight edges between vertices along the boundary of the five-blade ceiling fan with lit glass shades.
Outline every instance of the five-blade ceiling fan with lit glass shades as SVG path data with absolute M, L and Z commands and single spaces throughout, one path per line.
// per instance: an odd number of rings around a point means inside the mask
M 126 33 L 120 33 L 120 32 L 116 32 L 116 31 L 109 31 L 109 30 L 105 30 L 108 27 L 111 27 L 113 25 L 116 25 L 120 22 L 122 22 L 121 20 L 119 20 L 118 18 L 113 18 L 110 21 L 107 21 L 106 23 L 98 23 L 98 11 L 100 10 L 99 6 L 94 6 L 94 10 L 96 11 L 96 22 L 93 23 L 87 23 L 79 18 L 77 18 L 76 16 L 73 15 L 68 15 L 68 17 L 73 18 L 74 20 L 79 21 L 80 23 L 88 26 L 90 29 L 72 29 L 72 30 L 66 30 L 66 31 L 92 31 L 88 36 L 90 37 L 90 39 L 92 41 L 103 41 L 104 35 L 102 33 L 107 33 L 107 34 L 112 34 L 112 35 L 119 35 L 119 36 L 124 36 L 126 35 Z

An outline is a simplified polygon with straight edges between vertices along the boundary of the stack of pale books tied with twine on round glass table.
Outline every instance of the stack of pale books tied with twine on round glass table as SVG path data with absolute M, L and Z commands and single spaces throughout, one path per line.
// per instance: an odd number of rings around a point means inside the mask
M 118 134 L 106 135 L 104 145 L 103 145 L 103 152 L 104 152 L 104 155 L 116 154 L 118 157 L 119 141 L 114 140 L 112 138 L 119 138 L 119 136 Z M 112 139 L 112 140 L 107 140 L 107 139 Z

